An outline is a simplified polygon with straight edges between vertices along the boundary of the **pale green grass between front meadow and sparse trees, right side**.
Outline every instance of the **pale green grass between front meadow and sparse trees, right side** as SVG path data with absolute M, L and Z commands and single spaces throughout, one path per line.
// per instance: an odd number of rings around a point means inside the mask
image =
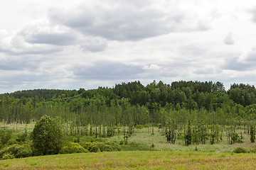
M 242 131 L 241 129 L 236 130 L 236 132 Z M 242 131 L 243 132 L 243 131 Z M 250 142 L 250 135 L 242 133 L 244 137 L 243 143 L 235 143 L 233 145 L 228 144 L 227 138 L 223 136 L 223 141 L 219 141 L 214 145 L 210 145 L 208 142 L 206 145 L 189 145 L 186 146 L 183 140 L 176 140 L 175 145 L 170 144 L 166 141 L 165 136 L 161 136 L 161 129 L 154 128 L 154 135 L 151 135 L 151 129 L 143 128 L 140 130 L 135 130 L 132 137 L 128 138 L 128 145 L 122 145 L 122 150 L 132 151 L 132 150 L 161 150 L 161 151 L 174 151 L 174 152 L 194 152 L 196 149 L 198 152 L 233 152 L 236 147 L 244 147 L 245 149 L 255 149 L 255 143 Z M 110 140 L 114 142 L 120 142 L 124 140 L 122 133 L 111 137 Z M 154 144 L 154 148 L 151 145 Z M 141 148 L 141 149 L 140 149 Z

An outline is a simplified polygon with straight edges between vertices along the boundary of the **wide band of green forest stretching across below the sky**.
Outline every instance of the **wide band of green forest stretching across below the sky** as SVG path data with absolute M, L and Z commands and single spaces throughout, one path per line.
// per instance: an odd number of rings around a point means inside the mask
M 58 120 L 53 125 L 61 124 L 65 134 L 78 140 L 122 134 L 124 145 L 136 128 L 149 128 L 151 135 L 160 129 L 171 144 L 176 140 L 185 145 L 222 140 L 233 144 L 242 142 L 242 132 L 236 132 L 236 127 L 242 127 L 255 142 L 255 96 L 253 85 L 234 83 L 225 90 L 219 81 L 153 81 L 146 86 L 132 81 L 90 90 L 35 89 L 0 94 L 0 122 L 4 128 L 10 123 Z

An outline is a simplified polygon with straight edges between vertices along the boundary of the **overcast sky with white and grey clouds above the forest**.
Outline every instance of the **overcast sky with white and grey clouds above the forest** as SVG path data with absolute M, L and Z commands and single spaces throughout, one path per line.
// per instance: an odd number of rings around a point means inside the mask
M 256 1 L 2 0 L 0 93 L 129 81 L 256 85 Z

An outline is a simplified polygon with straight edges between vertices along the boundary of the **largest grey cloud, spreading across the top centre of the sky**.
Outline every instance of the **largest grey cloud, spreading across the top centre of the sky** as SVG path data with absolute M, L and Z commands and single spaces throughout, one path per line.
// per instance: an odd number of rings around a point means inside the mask
M 84 35 L 119 41 L 208 29 L 172 6 L 169 12 L 151 6 L 150 3 L 138 5 L 135 1 L 105 1 L 94 6 L 84 4 L 70 11 L 54 8 L 49 11 L 49 18 L 52 23 L 68 26 Z

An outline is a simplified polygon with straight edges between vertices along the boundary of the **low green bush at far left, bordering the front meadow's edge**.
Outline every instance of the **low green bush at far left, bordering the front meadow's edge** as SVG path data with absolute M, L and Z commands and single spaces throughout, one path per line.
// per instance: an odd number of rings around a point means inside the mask
M 0 157 L 3 157 L 4 154 L 13 154 L 16 158 L 30 157 L 32 155 L 31 147 L 27 144 L 24 145 L 11 145 L 4 147 L 0 151 Z

